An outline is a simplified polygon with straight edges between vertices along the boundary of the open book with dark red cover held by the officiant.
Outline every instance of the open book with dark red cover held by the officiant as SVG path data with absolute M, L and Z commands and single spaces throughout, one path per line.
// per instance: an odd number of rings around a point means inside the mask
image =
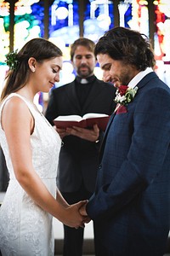
M 110 116 L 105 113 L 86 113 L 83 115 L 83 117 L 74 114 L 60 115 L 54 119 L 54 125 L 57 128 L 66 128 L 72 126 L 90 128 L 97 124 L 100 130 L 105 131 L 109 119 Z

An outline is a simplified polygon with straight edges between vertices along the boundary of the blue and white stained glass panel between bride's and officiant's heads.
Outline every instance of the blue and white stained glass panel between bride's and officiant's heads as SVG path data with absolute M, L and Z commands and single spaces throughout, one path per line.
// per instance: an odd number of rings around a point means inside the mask
M 67 84 L 75 78 L 71 65 L 70 45 L 79 38 L 78 1 L 54 0 L 49 7 L 49 40 L 63 52 L 63 69 L 56 86 Z

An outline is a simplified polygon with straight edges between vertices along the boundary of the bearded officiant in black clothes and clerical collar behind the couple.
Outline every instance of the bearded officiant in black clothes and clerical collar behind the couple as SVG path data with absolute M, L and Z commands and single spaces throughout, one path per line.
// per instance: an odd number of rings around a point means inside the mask
M 114 112 L 116 89 L 94 75 L 93 50 L 94 42 L 88 38 L 78 38 L 71 44 L 71 63 L 77 76 L 73 82 L 51 91 L 45 115 L 52 125 L 59 115 Z M 99 131 L 98 125 L 92 129 L 74 126 L 57 131 L 63 140 L 57 177 L 59 190 L 69 203 L 88 199 L 94 192 L 104 131 Z M 84 230 L 64 226 L 64 231 L 63 255 L 82 255 Z

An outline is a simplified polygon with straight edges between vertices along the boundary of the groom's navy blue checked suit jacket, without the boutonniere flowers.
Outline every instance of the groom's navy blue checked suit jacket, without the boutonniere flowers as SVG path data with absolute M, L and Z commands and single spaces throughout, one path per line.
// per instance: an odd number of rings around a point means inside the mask
M 161 256 L 170 219 L 170 89 L 147 74 L 127 113 L 114 113 L 87 205 L 113 256 Z

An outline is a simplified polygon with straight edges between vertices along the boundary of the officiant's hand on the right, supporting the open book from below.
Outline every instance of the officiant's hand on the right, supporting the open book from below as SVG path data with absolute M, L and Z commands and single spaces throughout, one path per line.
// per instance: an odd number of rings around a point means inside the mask
M 66 128 L 67 135 L 74 135 L 77 137 L 81 137 L 84 140 L 88 140 L 90 142 L 96 142 L 99 138 L 99 127 L 98 125 L 94 125 L 92 129 L 85 129 L 77 126 L 73 126 L 72 128 Z

